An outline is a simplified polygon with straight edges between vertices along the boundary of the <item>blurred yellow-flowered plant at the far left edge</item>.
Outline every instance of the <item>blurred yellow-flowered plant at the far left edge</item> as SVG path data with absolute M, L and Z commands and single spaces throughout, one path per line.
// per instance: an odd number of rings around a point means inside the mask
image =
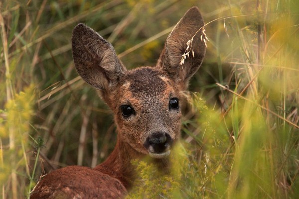
M 23 92 L 16 94 L 13 99 L 8 100 L 5 110 L 1 111 L 6 116 L 6 119 L 0 123 L 0 182 L 2 195 L 17 196 L 17 193 L 20 192 L 17 189 L 17 181 L 26 182 L 30 175 L 26 149 L 29 147 L 29 130 L 34 99 L 35 89 L 31 85 L 25 88 Z M 5 145 L 9 146 L 9 150 L 3 150 Z M 2 184 L 2 182 L 9 179 L 12 181 L 11 187 L 9 184 Z

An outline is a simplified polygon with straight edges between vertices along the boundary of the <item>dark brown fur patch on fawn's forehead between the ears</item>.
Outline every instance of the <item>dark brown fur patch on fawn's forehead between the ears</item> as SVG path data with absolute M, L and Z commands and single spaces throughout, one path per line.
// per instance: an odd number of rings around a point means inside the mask
M 166 83 L 161 79 L 163 72 L 151 67 L 141 67 L 129 71 L 124 76 L 124 82 L 130 83 L 129 90 L 133 95 L 159 95 L 166 89 Z

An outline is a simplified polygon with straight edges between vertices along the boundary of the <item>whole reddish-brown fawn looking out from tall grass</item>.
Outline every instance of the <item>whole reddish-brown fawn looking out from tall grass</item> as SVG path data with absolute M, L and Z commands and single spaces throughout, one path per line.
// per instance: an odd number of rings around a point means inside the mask
M 131 160 L 150 156 L 156 163 L 167 162 L 180 135 L 182 91 L 205 55 L 203 26 L 198 8 L 189 9 L 167 37 L 157 66 L 130 71 L 97 32 L 84 24 L 74 28 L 76 70 L 113 111 L 117 144 L 95 168 L 68 166 L 50 172 L 33 189 L 31 199 L 124 198 L 134 181 Z

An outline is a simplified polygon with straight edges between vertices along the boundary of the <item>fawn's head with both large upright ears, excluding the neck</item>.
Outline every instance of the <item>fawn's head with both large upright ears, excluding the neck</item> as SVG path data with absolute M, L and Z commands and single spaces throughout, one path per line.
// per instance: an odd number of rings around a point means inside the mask
M 74 28 L 72 49 L 77 72 L 100 91 L 114 112 L 118 139 L 138 153 L 166 157 L 179 138 L 181 92 L 200 67 L 206 51 L 201 32 L 197 32 L 203 26 L 198 8 L 189 9 L 169 34 L 157 65 L 130 71 L 118 59 L 113 46 L 97 32 L 84 24 Z M 192 37 L 194 57 L 190 55 L 181 65 Z

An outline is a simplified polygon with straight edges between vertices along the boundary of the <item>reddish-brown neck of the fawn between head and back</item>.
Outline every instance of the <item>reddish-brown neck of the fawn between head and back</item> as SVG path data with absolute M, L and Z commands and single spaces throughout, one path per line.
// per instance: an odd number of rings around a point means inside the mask
M 107 159 L 94 169 L 117 178 L 130 189 L 135 179 L 134 166 L 131 160 L 140 158 L 142 155 L 134 150 L 128 143 L 122 141 L 118 136 L 116 146 Z

